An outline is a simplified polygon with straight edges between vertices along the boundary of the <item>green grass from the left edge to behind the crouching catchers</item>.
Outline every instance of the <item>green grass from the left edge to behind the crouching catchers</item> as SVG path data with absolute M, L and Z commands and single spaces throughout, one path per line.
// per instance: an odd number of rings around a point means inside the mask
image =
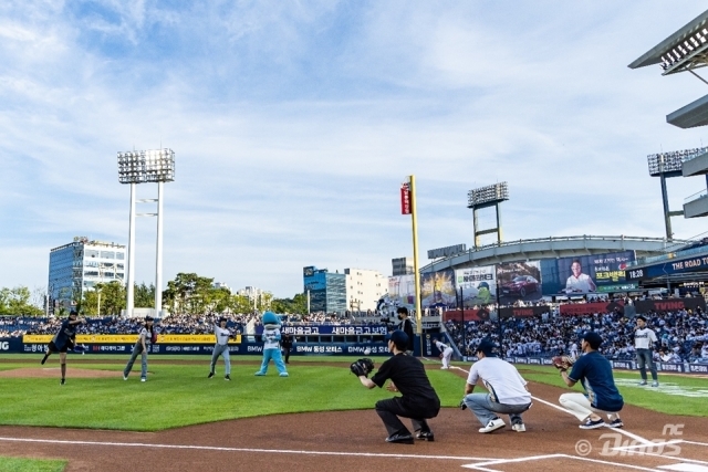
M 126 356 L 111 356 L 125 360 Z M 7 356 L 4 357 L 8 358 Z M 75 359 L 76 357 L 73 357 Z M 91 356 L 82 356 L 83 359 Z M 0 370 L 37 368 L 39 356 L 22 363 L 2 363 Z M 18 359 L 18 357 L 13 357 Z M 93 357 L 96 363 L 107 356 Z M 150 360 L 165 361 L 167 356 Z M 157 431 L 188 424 L 237 418 L 306 411 L 369 409 L 381 398 L 389 398 L 385 389 L 367 390 L 346 365 L 355 358 L 303 357 L 289 365 L 290 377 L 278 377 L 271 365 L 268 376 L 256 377 L 260 356 L 240 356 L 232 360 L 231 378 L 223 380 L 223 365 L 217 376 L 207 379 L 209 359 L 205 356 L 173 356 L 171 359 L 198 359 L 200 365 L 149 364 L 148 381 L 139 381 L 139 364 L 131 378 L 119 375 L 123 364 L 72 364 L 69 367 L 102 369 L 116 373 L 110 378 L 71 378 L 65 386 L 56 378 L 3 378 L 0 391 L 2 424 L 98 428 Z M 374 359 L 377 364 L 383 358 Z M 250 364 L 244 364 L 250 361 Z M 342 367 L 316 365 L 342 363 Z M 56 359 L 44 366 L 58 368 Z M 137 374 L 136 370 L 137 369 Z M 444 370 L 429 371 L 430 381 L 445 407 L 455 407 L 462 397 L 465 380 Z M 32 395 L 28 395 L 31 391 Z

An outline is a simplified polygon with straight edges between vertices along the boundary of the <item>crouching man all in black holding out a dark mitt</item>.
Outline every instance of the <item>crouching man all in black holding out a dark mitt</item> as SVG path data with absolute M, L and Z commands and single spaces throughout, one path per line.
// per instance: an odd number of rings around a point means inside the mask
M 366 388 L 381 388 L 386 380 L 391 380 L 386 390 L 400 392 L 400 397 L 376 402 L 376 413 L 388 432 L 386 442 L 414 443 L 414 436 L 398 417 L 410 419 L 417 439 L 434 441 L 435 437 L 426 419 L 438 416 L 440 399 L 430 385 L 423 363 L 405 354 L 408 335 L 396 329 L 386 336 L 386 340 L 393 357 L 384 361 L 371 379 L 368 374 L 374 368 L 371 359 L 358 359 L 352 363 L 351 370 Z

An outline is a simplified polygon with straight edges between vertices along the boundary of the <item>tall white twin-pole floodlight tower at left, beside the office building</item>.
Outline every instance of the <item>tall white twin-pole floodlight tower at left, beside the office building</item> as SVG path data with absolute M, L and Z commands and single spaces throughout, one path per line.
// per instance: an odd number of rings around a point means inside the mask
M 135 292 L 135 217 L 157 217 L 157 250 L 155 255 L 155 313 L 163 310 L 163 185 L 175 180 L 175 153 L 171 149 L 128 150 L 118 153 L 118 181 L 131 185 L 131 223 L 128 234 L 128 276 L 125 312 L 133 316 Z M 157 183 L 157 198 L 138 202 L 156 202 L 156 213 L 135 213 L 135 186 Z

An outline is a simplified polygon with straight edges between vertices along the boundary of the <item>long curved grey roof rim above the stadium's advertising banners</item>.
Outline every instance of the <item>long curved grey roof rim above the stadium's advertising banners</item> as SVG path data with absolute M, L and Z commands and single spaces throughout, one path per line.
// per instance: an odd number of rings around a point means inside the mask
M 603 254 L 618 251 L 635 251 L 637 258 L 663 255 L 677 244 L 689 241 L 667 241 L 664 238 L 626 235 L 577 235 L 550 237 L 530 240 L 507 241 L 471 249 L 462 254 L 440 259 L 420 269 L 423 273 L 445 269 L 466 269 L 493 265 L 504 262 L 535 259 L 571 258 Z

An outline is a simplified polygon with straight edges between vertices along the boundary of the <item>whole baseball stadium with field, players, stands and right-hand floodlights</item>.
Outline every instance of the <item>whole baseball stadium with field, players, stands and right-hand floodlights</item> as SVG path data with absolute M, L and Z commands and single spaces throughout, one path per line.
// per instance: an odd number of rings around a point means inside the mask
M 707 22 L 629 66 L 706 65 Z M 649 170 L 666 238 L 502 241 L 507 185 L 483 187 L 473 248 L 429 251 L 373 314 L 0 319 L 0 471 L 708 471 L 708 238 L 670 230 L 708 199 L 665 190 L 708 148 Z

